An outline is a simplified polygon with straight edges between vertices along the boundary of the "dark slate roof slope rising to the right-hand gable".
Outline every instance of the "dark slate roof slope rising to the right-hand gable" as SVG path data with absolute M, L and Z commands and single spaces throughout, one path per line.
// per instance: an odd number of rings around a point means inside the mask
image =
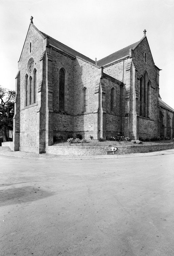
M 125 48 L 115 52 L 115 53 L 110 54 L 109 56 L 107 56 L 107 57 L 105 57 L 103 59 L 98 60 L 97 61 L 97 65 L 99 67 L 101 67 L 101 66 L 104 66 L 104 65 L 106 65 L 106 64 L 108 64 L 110 62 L 114 62 L 114 60 L 120 59 L 120 58 L 128 55 L 129 54 L 129 49 L 133 49 L 135 46 L 137 46 L 139 44 L 139 42 L 140 41 L 138 41 L 136 43 L 133 43 L 133 44 L 131 44 L 131 45 L 129 45 L 129 46 L 127 46 L 127 47 L 125 47 Z

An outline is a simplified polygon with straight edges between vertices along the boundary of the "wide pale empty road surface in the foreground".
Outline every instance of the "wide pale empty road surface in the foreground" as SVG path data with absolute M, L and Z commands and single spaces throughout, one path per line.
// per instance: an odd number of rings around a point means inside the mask
M 173 256 L 174 154 L 0 155 L 1 256 Z

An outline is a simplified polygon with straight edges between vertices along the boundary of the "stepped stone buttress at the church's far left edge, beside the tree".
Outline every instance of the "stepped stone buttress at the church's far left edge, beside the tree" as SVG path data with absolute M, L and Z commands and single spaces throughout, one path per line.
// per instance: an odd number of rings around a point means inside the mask
M 20 150 L 20 71 L 16 76 L 14 117 L 13 117 L 13 150 Z

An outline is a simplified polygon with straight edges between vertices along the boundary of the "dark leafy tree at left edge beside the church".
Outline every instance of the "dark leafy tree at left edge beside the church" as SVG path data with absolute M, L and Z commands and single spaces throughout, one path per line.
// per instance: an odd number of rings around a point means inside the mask
M 8 141 L 6 130 L 13 130 L 14 98 L 15 91 L 9 91 L 0 85 L 0 129 L 3 142 Z

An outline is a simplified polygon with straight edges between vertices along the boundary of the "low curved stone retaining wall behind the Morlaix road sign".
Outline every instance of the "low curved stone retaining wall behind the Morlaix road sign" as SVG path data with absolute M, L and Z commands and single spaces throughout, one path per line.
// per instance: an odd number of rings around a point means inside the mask
M 153 144 L 153 145 L 131 145 L 118 146 L 114 154 L 129 154 L 129 153 L 144 153 L 158 150 L 166 150 L 174 148 L 174 143 L 170 144 Z M 104 147 L 64 147 L 64 146 L 49 146 L 46 148 L 46 153 L 57 155 L 71 156 L 89 156 L 89 155 L 105 155 Z M 112 154 L 112 152 L 108 152 Z

